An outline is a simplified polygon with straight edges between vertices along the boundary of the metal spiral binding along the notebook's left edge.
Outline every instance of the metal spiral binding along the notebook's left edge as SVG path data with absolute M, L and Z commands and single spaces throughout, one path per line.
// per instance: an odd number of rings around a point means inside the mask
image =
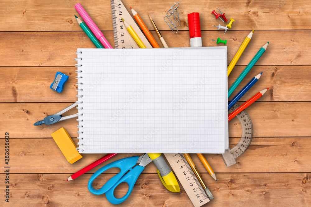
M 82 54 L 82 52 L 81 51 L 78 51 L 78 52 L 76 52 L 76 54 L 78 55 L 78 54 Z M 81 61 L 82 60 L 82 58 L 75 58 L 75 61 Z M 82 67 L 82 64 L 75 64 L 75 67 Z M 78 74 L 78 73 L 82 73 L 82 70 L 79 70 L 79 69 L 77 69 L 76 70 L 76 73 Z M 82 76 L 76 76 L 76 78 L 77 78 L 77 80 L 79 81 L 79 80 L 81 80 L 82 79 Z M 82 83 L 81 82 L 77 82 L 76 83 L 76 85 L 82 85 Z M 83 89 L 81 89 L 81 88 L 78 88 L 78 89 L 76 89 L 76 91 L 83 91 Z M 76 97 L 79 99 L 79 98 L 83 98 L 83 95 L 81 94 L 81 95 L 79 95 L 79 94 L 77 94 L 76 95 Z M 79 102 L 79 104 L 82 104 L 83 103 L 83 101 L 80 101 Z M 83 107 L 81 107 L 81 105 L 80 106 L 77 106 L 76 107 L 77 108 L 77 110 L 82 110 L 83 109 Z M 83 116 L 83 113 L 77 113 L 78 114 L 78 116 Z M 77 119 L 77 122 L 83 122 L 83 119 Z M 83 131 L 81 131 L 81 128 L 83 128 L 83 125 L 81 125 L 81 124 L 78 124 L 77 125 L 77 128 L 78 128 L 78 131 L 77 131 L 77 133 L 79 134 L 79 136 L 77 137 L 78 138 L 78 140 L 83 140 L 83 137 L 82 136 L 80 136 L 80 135 L 82 135 L 83 134 Z M 78 145 L 79 146 L 83 146 L 83 143 L 81 143 L 81 142 L 78 142 Z M 83 152 L 83 149 L 81 149 L 81 147 L 77 147 L 76 148 L 79 152 Z

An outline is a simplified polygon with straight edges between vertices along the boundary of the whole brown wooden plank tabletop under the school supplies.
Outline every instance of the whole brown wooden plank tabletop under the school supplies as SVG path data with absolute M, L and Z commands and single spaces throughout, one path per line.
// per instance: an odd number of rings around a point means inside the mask
M 51 133 L 64 127 L 77 143 L 76 120 L 33 126 L 76 101 L 75 51 L 77 48 L 95 48 L 74 18 L 77 2 L 0 1 L 1 206 L 112 206 L 104 195 L 93 195 L 87 189 L 88 179 L 99 167 L 76 180 L 66 181 L 72 173 L 103 156 L 84 154 L 74 164 L 66 161 Z M 80 3 L 113 45 L 110 1 L 81 0 Z M 311 205 L 310 1 L 180 1 L 181 26 L 177 34 L 173 34 L 163 20 L 174 3 L 123 0 L 128 9 L 132 6 L 141 15 L 161 46 L 147 12 L 169 47 L 190 46 L 187 14 L 200 12 L 203 46 L 217 46 L 210 39 L 227 39 L 228 63 L 246 35 L 255 29 L 251 42 L 228 78 L 229 86 L 258 49 L 270 41 L 267 51 L 236 90 L 261 71 L 260 80 L 240 103 L 270 87 L 247 109 L 254 125 L 251 146 L 238 163 L 229 168 L 225 167 L 219 154 L 206 156 L 214 168 L 217 182 L 208 175 L 197 156 L 192 156 L 215 197 L 205 206 Z M 225 35 L 211 26 L 224 25 L 211 15 L 217 7 L 227 18 L 235 20 L 233 28 Z M 49 88 L 57 71 L 70 76 L 62 93 Z M 73 113 L 76 113 L 75 109 L 67 114 Z M 5 132 L 9 134 L 8 165 L 5 164 Z M 234 119 L 229 124 L 231 147 L 240 135 L 241 126 Z M 127 156 L 120 154 L 112 160 Z M 7 175 L 4 172 L 8 169 L 5 166 L 10 167 L 9 184 L 5 184 Z M 102 185 L 115 173 L 117 170 L 110 170 L 96 184 Z M 9 185 L 9 203 L 4 197 L 6 185 Z M 124 194 L 126 187 L 118 191 Z M 137 205 L 191 206 L 192 203 L 182 187 L 180 193 L 167 191 L 155 166 L 150 164 L 139 177 L 131 196 L 122 204 Z

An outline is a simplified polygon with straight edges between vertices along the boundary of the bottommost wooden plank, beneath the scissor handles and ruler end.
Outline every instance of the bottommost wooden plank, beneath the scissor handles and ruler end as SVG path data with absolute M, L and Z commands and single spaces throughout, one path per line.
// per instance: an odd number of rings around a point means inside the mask
M 114 174 L 105 174 L 96 180 L 102 186 Z M 10 174 L 9 193 L 11 205 L 32 206 L 114 206 L 104 195 L 93 195 L 87 189 L 91 174 L 83 179 L 67 182 L 62 177 L 69 174 Z M 143 206 L 192 206 L 187 194 L 167 191 L 157 179 L 157 174 L 142 174 L 132 194 L 121 206 L 143 203 Z M 309 173 L 224 173 L 218 181 L 203 174 L 214 195 L 205 206 L 263 205 L 308 206 L 311 203 Z M 0 175 L 5 180 L 5 175 Z M 4 184 L 2 189 L 4 188 Z M 116 195 L 124 195 L 126 187 L 118 188 Z M 3 199 L 4 200 L 4 199 Z M 4 201 L 3 201 L 4 202 Z

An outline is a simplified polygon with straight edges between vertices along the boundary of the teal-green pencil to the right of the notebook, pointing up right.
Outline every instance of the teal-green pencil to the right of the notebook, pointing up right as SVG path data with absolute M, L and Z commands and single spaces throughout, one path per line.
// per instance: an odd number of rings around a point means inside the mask
M 257 54 L 253 57 L 251 62 L 248 63 L 244 71 L 239 75 L 239 77 L 234 81 L 234 83 L 231 85 L 230 89 L 228 90 L 228 98 L 233 93 L 233 91 L 236 89 L 236 87 L 241 83 L 243 78 L 246 76 L 246 74 L 252 69 L 252 67 L 255 65 L 255 63 L 258 61 L 258 59 L 262 56 L 262 54 L 266 51 L 268 47 L 268 43 L 266 43 L 264 46 L 262 46 Z

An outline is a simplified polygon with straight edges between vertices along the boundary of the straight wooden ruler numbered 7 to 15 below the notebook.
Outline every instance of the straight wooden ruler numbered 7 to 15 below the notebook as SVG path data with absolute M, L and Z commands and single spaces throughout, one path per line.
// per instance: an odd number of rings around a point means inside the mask
M 200 207 L 210 200 L 182 153 L 164 154 L 192 204 Z

